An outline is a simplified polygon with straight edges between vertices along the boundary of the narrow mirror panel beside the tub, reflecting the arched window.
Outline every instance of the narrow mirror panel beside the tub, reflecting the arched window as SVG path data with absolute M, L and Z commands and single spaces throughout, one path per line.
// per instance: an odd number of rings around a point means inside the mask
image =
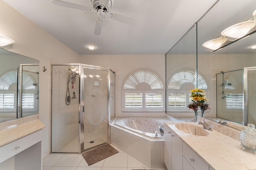
M 193 26 L 166 54 L 166 112 L 180 119 L 192 115 L 186 106 L 189 91 L 196 86 L 195 38 Z

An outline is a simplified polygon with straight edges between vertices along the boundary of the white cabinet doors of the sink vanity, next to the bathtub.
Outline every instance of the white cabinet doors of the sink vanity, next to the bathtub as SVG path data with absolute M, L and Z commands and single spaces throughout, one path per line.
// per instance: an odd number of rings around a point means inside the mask
M 182 140 L 164 126 L 164 164 L 168 170 L 182 170 Z

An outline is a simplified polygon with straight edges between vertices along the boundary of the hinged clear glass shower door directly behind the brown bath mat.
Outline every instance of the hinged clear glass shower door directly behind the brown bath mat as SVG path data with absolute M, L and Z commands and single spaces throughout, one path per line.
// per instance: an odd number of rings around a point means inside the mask
M 83 150 L 108 143 L 108 69 L 83 66 Z

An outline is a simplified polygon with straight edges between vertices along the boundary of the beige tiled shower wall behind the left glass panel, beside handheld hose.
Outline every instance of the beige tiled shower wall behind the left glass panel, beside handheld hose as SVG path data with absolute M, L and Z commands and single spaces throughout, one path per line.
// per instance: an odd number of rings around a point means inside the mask
M 75 149 L 72 143 L 69 143 L 79 135 L 78 99 L 71 99 L 70 105 L 66 105 L 65 102 L 67 70 L 68 66 L 54 66 L 52 69 L 52 152 L 65 152 L 67 147 Z M 71 86 L 69 87 L 71 89 Z M 78 89 L 75 90 L 78 93 Z M 73 89 L 70 90 L 71 97 L 72 92 L 74 92 Z M 78 152 L 78 149 L 74 152 Z

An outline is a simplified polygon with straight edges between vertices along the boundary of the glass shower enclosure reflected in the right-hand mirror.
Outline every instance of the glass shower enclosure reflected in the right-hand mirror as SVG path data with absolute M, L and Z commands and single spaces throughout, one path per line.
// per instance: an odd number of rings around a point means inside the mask
M 256 67 L 216 74 L 217 118 L 256 124 Z

